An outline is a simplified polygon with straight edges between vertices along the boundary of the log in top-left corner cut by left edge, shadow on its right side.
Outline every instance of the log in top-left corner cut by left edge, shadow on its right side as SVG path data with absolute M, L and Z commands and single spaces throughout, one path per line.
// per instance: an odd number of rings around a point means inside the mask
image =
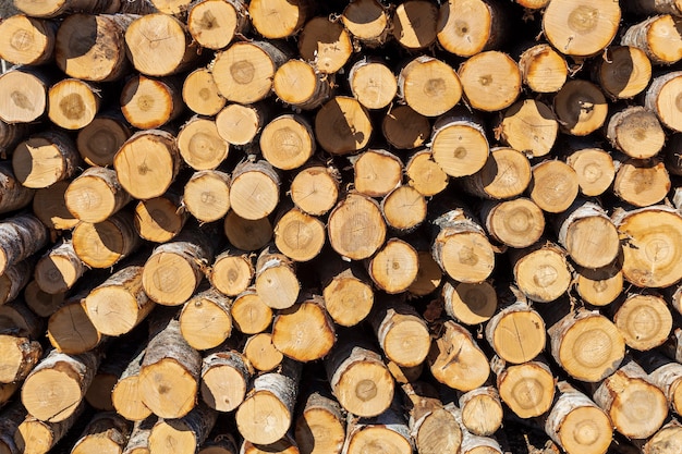
M 57 28 L 52 21 L 26 14 L 4 17 L 0 25 L 0 59 L 26 65 L 51 62 Z

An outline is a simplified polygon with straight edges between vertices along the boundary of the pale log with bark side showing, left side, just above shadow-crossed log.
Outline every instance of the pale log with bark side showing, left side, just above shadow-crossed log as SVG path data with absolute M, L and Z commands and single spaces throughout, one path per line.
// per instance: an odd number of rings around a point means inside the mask
M 115 170 L 90 167 L 69 184 L 64 201 L 78 220 L 97 223 L 121 210 L 131 196 L 121 187 Z

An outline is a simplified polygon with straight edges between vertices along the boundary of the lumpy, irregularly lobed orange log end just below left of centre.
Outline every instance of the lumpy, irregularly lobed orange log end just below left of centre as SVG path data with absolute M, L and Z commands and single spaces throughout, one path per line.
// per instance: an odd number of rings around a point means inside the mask
M 279 310 L 272 320 L 272 345 L 289 358 L 308 363 L 327 356 L 336 342 L 322 297 L 314 295 Z

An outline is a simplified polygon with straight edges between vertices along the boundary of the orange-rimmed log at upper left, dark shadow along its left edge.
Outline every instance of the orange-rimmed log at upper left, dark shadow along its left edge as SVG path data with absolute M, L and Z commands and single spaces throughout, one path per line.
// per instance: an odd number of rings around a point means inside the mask
M 121 112 L 130 124 L 142 130 L 160 127 L 183 111 L 180 83 L 170 77 L 135 74 L 121 89 Z

